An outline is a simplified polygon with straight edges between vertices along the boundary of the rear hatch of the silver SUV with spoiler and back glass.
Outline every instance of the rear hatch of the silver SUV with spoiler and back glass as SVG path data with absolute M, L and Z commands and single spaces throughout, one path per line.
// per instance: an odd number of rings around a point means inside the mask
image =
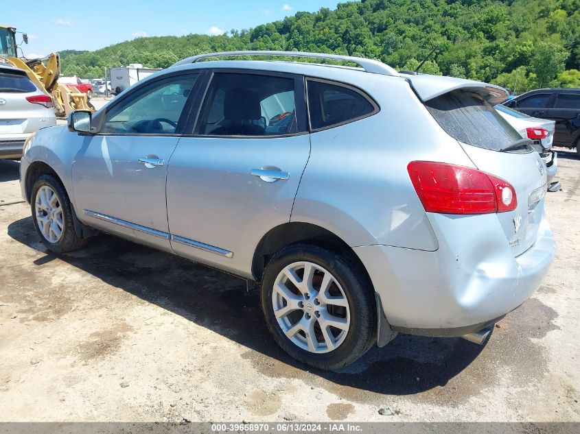
M 425 98 L 426 108 L 441 128 L 460 143 L 479 170 L 513 185 L 517 208 L 497 216 L 511 251 L 517 256 L 537 238 L 544 215 L 546 167 L 533 151 L 531 141 L 522 138 L 494 109 L 507 95 L 506 91 L 484 83 L 457 80 L 442 80 L 439 86 L 430 86 L 430 93 L 424 91 L 423 97 L 417 86 L 413 87 L 421 99 Z M 449 84 L 454 85 L 445 92 L 445 85 Z

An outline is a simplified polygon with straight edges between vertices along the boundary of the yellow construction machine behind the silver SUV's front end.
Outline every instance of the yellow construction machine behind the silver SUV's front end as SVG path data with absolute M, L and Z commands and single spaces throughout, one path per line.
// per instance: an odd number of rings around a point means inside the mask
M 22 34 L 23 42 L 28 43 L 27 34 Z M 16 28 L 0 25 L 0 62 L 26 71 L 30 80 L 40 91 L 52 98 L 56 116 L 67 116 L 74 110 L 94 110 L 86 94 L 74 86 L 58 83 L 60 76 L 60 56 L 50 53 L 49 56 L 37 59 L 18 57 L 16 53 Z

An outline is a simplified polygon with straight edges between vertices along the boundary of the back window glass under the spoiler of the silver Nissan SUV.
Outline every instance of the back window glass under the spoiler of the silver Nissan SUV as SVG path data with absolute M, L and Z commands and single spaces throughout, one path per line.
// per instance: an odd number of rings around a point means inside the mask
M 476 93 L 445 93 L 425 106 L 447 134 L 467 145 L 501 151 L 522 138 Z

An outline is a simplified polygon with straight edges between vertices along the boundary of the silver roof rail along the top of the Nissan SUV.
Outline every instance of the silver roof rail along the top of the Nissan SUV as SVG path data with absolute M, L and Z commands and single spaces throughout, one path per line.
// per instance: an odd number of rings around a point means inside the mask
M 399 73 L 395 69 L 389 67 L 383 62 L 378 60 L 358 58 L 353 56 L 340 56 L 339 54 L 326 54 L 326 53 L 305 53 L 302 51 L 262 51 L 262 50 L 248 50 L 248 51 L 222 51 L 221 53 L 207 53 L 199 54 L 198 56 L 192 56 L 187 59 L 180 60 L 179 62 L 172 65 L 172 67 L 178 67 L 179 65 L 196 63 L 198 60 L 218 58 L 218 57 L 230 57 L 230 56 L 291 56 L 296 58 L 314 58 L 314 59 L 327 59 L 327 60 L 342 60 L 343 62 L 352 62 L 358 64 L 359 67 L 364 69 L 369 73 L 382 74 L 382 75 L 393 75 L 398 77 Z

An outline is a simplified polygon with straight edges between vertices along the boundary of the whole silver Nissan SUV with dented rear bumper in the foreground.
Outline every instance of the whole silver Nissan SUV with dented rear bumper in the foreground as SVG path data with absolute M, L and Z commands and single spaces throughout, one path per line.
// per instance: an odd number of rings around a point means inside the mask
M 300 56 L 305 62 L 214 60 Z M 482 342 L 555 254 L 502 88 L 363 58 L 196 56 L 25 146 L 52 252 L 98 231 L 259 283 L 275 341 L 343 367 L 397 333 Z

